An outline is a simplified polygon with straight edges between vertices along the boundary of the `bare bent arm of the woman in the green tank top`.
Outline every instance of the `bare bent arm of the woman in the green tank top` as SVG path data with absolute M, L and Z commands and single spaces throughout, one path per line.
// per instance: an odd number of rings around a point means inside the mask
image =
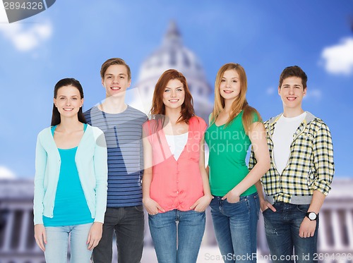
M 241 193 L 245 192 L 251 185 L 254 185 L 260 178 L 270 169 L 270 154 L 266 142 L 266 132 L 263 123 L 255 122 L 251 124 L 249 130 L 249 138 L 253 145 L 253 152 L 256 157 L 256 164 L 248 175 L 227 195 L 222 197 L 222 200 L 227 199 L 228 202 L 239 202 Z

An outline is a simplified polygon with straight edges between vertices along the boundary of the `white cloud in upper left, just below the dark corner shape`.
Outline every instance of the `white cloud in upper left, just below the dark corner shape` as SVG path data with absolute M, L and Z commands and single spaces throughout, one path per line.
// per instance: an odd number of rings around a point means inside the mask
M 52 24 L 49 21 L 30 26 L 23 23 L 0 23 L 0 32 L 10 39 L 19 51 L 30 51 L 52 35 Z

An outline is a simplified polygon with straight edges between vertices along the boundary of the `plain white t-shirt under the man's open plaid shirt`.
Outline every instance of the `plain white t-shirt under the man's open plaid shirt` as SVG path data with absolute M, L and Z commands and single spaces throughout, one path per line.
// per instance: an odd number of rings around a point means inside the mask
M 286 118 L 282 114 L 275 124 L 275 131 L 273 133 L 273 157 L 279 173 L 282 173 L 287 166 L 293 135 L 305 116 L 306 112 L 293 118 Z

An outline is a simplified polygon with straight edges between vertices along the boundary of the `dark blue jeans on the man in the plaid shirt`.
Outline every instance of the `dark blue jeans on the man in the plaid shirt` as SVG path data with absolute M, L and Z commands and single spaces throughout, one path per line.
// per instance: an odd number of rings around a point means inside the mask
M 313 260 L 317 251 L 318 221 L 315 234 L 311 238 L 299 237 L 299 227 L 309 204 L 273 204 L 276 212 L 266 209 L 263 212 L 265 233 L 273 262 L 317 262 Z M 294 247 L 294 255 L 293 255 Z

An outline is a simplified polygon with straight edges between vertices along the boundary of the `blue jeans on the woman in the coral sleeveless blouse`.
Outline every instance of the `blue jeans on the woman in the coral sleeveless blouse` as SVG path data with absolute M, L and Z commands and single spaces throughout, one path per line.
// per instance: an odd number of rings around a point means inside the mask
M 159 263 L 196 262 L 205 232 L 205 212 L 174 209 L 149 214 L 148 224 Z

